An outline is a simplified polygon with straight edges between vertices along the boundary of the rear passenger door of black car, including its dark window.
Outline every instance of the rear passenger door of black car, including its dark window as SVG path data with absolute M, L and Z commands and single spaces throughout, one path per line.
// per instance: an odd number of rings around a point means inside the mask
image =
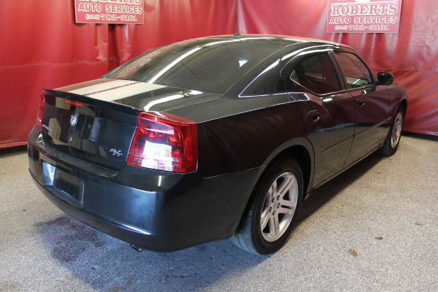
M 355 102 L 350 93 L 342 92 L 344 84 L 334 65 L 326 50 L 313 50 L 300 53 L 283 69 L 289 75 L 285 87 L 299 101 L 307 138 L 314 149 L 313 186 L 344 169 L 352 144 Z

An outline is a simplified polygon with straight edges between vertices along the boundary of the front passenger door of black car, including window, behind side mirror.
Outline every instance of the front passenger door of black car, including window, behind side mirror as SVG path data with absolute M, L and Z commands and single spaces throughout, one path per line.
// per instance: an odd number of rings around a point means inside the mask
M 368 66 L 355 54 L 335 51 L 346 90 L 355 100 L 355 135 L 346 167 L 383 143 L 389 114 L 388 91 L 378 85 Z

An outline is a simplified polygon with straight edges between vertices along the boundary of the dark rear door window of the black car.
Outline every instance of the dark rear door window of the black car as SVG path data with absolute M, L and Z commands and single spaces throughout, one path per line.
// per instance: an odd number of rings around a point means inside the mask
M 302 58 L 290 78 L 320 95 L 341 90 L 335 68 L 327 53 Z

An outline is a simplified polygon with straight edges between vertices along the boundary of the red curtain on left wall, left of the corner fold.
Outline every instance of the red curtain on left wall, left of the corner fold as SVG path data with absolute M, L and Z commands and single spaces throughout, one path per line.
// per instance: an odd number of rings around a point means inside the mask
M 170 42 L 233 34 L 235 1 L 145 0 L 144 25 L 78 25 L 73 0 L 0 0 L 0 149 L 25 144 L 42 88 L 97 78 Z

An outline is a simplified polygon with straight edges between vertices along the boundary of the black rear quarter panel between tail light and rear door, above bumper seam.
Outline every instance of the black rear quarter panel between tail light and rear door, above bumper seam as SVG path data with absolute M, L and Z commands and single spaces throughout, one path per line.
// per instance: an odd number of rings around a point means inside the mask
M 264 166 L 283 144 L 305 139 L 298 104 L 287 94 L 222 97 L 171 113 L 198 122 L 198 171 L 204 177 Z

